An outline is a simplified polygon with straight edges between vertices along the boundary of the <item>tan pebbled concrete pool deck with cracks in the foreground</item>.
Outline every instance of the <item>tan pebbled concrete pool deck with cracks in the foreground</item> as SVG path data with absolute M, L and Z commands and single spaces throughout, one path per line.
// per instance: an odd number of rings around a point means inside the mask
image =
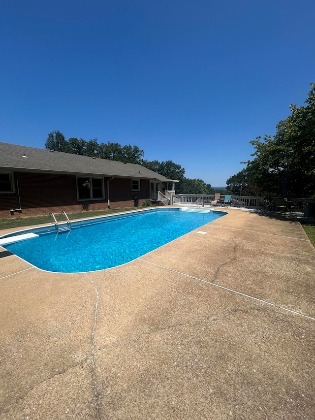
M 315 249 L 218 209 L 108 270 L 0 258 L 0 419 L 314 419 Z

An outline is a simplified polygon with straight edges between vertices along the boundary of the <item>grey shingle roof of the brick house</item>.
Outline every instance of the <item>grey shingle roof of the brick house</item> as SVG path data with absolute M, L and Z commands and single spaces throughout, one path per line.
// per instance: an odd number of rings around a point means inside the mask
M 33 147 L 1 142 L 0 168 L 124 178 L 150 178 L 158 181 L 168 181 L 168 178 L 157 172 L 134 163 L 94 159 L 88 156 L 51 152 L 46 149 L 35 149 Z

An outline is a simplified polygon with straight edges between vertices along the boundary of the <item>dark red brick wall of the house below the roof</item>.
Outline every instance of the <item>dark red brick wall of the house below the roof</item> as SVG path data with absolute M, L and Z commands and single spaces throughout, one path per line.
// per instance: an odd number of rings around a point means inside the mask
M 107 180 L 104 178 L 105 198 L 101 200 L 78 201 L 76 176 L 64 174 L 15 172 L 15 193 L 0 194 L 0 218 L 18 216 L 48 215 L 51 211 L 79 213 L 87 210 L 107 209 Z M 20 191 L 22 212 L 10 213 L 19 208 L 17 181 Z M 150 197 L 150 181 L 140 181 L 141 191 L 131 191 L 131 179 L 114 178 L 109 181 L 111 208 L 133 206 L 134 196 L 141 201 Z

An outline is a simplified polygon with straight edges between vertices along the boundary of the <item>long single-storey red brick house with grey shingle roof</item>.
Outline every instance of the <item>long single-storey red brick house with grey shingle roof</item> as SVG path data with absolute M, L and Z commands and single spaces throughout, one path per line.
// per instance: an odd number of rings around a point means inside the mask
M 169 182 L 134 163 L 0 143 L 0 218 L 132 207 Z

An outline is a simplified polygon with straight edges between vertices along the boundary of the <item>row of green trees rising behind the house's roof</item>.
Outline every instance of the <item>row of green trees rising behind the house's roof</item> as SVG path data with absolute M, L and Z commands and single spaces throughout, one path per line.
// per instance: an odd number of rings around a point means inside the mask
M 45 148 L 56 152 L 73 153 L 75 155 L 90 156 L 93 158 L 108 159 L 125 163 L 136 163 L 151 169 L 169 179 L 179 180 L 176 183 L 176 194 L 213 194 L 214 189 L 202 179 L 185 177 L 185 168 L 172 161 L 148 161 L 144 158 L 144 151 L 138 146 L 119 143 L 98 143 L 97 139 L 84 140 L 70 137 L 68 140 L 59 130 L 48 134 Z

